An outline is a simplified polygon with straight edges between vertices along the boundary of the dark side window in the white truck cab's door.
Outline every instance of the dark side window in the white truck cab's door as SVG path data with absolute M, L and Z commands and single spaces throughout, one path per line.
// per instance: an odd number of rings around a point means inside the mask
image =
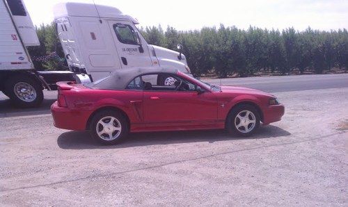
M 134 29 L 128 24 L 113 24 L 118 41 L 124 44 L 138 44 L 134 36 Z

